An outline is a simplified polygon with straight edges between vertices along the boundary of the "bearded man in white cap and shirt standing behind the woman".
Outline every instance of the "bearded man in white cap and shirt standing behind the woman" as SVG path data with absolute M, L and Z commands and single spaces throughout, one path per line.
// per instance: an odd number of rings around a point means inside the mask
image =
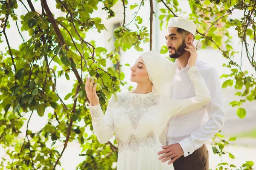
M 186 44 L 193 45 L 196 25 L 190 20 L 174 17 L 166 28 L 166 45 L 169 56 L 175 58 L 176 77 L 172 85 L 171 98 L 186 99 L 195 96 L 189 79 L 187 65 L 190 56 Z M 197 111 L 172 117 L 169 121 L 167 146 L 158 154 L 160 160 L 173 163 L 175 170 L 208 170 L 208 139 L 218 133 L 224 125 L 225 115 L 221 99 L 219 76 L 215 68 L 197 59 L 195 63 L 211 92 L 211 102 Z M 204 116 L 209 117 L 204 121 Z M 165 136 L 166 137 L 166 136 Z

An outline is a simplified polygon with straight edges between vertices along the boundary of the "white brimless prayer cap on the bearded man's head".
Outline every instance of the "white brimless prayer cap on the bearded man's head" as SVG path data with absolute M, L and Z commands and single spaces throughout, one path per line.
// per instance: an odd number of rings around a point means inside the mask
M 180 17 L 170 18 L 167 28 L 168 27 L 181 28 L 183 30 L 189 31 L 191 34 L 195 36 L 196 25 L 191 20 L 188 20 L 186 18 L 180 18 Z

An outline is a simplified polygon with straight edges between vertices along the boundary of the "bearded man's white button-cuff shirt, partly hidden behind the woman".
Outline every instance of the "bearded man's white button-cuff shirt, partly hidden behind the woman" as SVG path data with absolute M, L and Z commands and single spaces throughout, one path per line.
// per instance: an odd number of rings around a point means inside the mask
M 179 71 L 177 61 L 174 64 L 177 70 L 171 88 L 171 98 L 186 99 L 195 96 L 193 83 L 188 75 L 189 67 L 186 66 L 186 68 L 181 68 Z M 169 121 L 168 145 L 179 143 L 184 151 L 184 156 L 192 154 L 198 147 L 218 133 L 225 121 L 221 86 L 216 69 L 198 59 L 195 65 L 211 92 L 211 101 L 196 111 L 172 117 Z

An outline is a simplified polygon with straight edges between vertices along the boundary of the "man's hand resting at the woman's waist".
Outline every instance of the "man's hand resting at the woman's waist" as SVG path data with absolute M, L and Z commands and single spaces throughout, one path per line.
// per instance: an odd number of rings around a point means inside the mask
M 162 146 L 162 148 L 163 150 L 158 152 L 158 155 L 161 155 L 163 153 L 165 154 L 163 156 L 160 156 L 159 159 L 163 159 L 162 162 L 171 159 L 172 161 L 170 161 L 168 164 L 172 164 L 176 159 L 180 158 L 180 156 L 184 154 L 182 147 L 178 143 L 170 144 L 168 146 Z

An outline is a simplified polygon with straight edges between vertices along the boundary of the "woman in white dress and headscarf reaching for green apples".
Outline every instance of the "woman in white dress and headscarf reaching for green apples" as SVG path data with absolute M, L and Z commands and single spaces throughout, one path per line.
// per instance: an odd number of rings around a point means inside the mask
M 189 77 L 195 95 L 189 99 L 170 99 L 175 67 L 155 51 L 143 53 L 131 67 L 131 81 L 137 87 L 129 93 L 112 95 L 105 115 L 99 105 L 96 85 L 87 78 L 85 90 L 89 99 L 93 131 L 100 143 L 113 137 L 118 143 L 118 170 L 174 170 L 172 164 L 161 162 L 157 153 L 166 145 L 161 134 L 169 119 L 193 111 L 210 101 L 210 92 L 195 66 L 194 46 L 189 46 Z M 182 123 L 182 122 L 180 122 Z M 164 136 L 164 135 L 163 135 Z

